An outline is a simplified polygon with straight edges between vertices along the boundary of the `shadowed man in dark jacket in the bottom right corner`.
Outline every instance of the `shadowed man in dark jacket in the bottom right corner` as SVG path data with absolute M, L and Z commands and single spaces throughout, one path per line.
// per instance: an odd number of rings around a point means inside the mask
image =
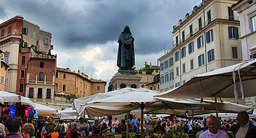
M 246 111 L 238 112 L 237 121 L 240 127 L 235 137 L 256 137 L 256 126 L 249 122 L 249 115 Z

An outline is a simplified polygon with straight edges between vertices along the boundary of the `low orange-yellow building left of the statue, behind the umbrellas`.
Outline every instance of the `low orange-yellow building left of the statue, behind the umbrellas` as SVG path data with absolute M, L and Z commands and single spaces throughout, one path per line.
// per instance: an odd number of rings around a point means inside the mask
M 63 92 L 73 94 L 77 98 L 88 97 L 93 94 L 105 92 L 105 81 L 88 79 L 88 75 L 69 70 L 69 68 L 56 68 L 55 93 Z

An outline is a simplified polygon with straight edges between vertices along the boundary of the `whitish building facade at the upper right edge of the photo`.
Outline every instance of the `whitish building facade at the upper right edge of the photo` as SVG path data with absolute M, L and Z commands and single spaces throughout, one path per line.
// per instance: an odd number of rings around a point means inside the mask
M 256 58 L 256 1 L 239 1 L 231 8 L 240 16 L 243 60 Z

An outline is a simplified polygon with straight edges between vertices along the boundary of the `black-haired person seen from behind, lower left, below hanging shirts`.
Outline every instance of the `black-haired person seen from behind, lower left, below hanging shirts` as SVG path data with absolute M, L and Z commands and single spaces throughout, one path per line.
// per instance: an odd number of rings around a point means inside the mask
M 21 126 L 21 121 L 16 118 L 10 118 L 5 122 L 5 133 L 6 138 L 21 138 L 18 134 L 19 127 Z

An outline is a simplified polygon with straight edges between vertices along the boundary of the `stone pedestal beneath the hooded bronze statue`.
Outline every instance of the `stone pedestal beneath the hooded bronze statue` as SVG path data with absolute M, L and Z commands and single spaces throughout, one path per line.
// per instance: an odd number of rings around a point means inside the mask
M 135 72 L 135 74 L 133 74 Z M 139 88 L 141 77 L 135 70 L 118 70 L 109 82 L 109 91 L 115 91 L 126 87 Z

